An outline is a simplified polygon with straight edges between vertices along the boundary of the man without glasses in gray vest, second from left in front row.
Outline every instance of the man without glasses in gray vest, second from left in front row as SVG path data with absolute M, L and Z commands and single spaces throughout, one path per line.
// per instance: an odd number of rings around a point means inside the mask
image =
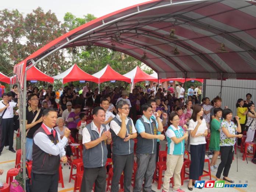
M 95 107 L 93 121 L 83 128 L 83 179 L 81 191 L 91 192 L 95 183 L 96 192 L 106 191 L 107 144 L 111 143 L 111 133 L 107 131 L 105 111 Z

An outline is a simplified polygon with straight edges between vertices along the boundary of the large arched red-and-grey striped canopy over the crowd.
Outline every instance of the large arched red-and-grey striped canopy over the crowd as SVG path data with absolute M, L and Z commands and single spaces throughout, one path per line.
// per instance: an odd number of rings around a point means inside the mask
M 64 34 L 14 67 L 20 82 L 31 59 L 95 45 L 129 54 L 165 78 L 256 79 L 255 0 L 152 0 Z

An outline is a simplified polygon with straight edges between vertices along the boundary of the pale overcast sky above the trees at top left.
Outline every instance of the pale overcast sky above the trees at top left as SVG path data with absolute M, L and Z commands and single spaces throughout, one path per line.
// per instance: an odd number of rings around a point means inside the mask
M 33 9 L 42 7 L 45 12 L 51 10 L 60 21 L 63 21 L 65 13 L 70 12 L 76 17 L 83 17 L 88 13 L 101 17 L 138 3 L 148 0 L 1 0 L 0 10 L 5 8 L 18 9 L 27 14 Z

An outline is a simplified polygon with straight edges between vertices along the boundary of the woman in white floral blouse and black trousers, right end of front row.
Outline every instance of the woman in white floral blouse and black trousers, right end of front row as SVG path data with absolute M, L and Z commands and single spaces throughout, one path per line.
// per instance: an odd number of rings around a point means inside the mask
M 231 167 L 232 159 L 234 156 L 234 145 L 235 138 L 242 138 L 242 134 L 237 135 L 236 132 L 241 133 L 241 125 L 239 122 L 239 117 L 235 116 L 237 120 L 237 125 L 232 122 L 232 111 L 230 109 L 224 109 L 222 113 L 223 121 L 221 122 L 221 132 L 220 132 L 220 153 L 221 162 L 218 166 L 216 173 L 217 180 L 220 180 L 220 175 L 223 171 L 223 180 L 233 183 L 233 181 L 228 178 L 228 172 Z

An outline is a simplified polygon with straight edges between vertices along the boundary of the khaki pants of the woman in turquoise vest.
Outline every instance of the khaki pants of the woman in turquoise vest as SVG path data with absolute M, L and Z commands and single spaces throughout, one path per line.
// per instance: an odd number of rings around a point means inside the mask
M 184 156 L 167 154 L 166 166 L 167 170 L 164 172 L 163 190 L 169 191 L 170 178 L 174 179 L 173 189 L 177 190 L 181 186 L 181 168 L 183 165 Z

